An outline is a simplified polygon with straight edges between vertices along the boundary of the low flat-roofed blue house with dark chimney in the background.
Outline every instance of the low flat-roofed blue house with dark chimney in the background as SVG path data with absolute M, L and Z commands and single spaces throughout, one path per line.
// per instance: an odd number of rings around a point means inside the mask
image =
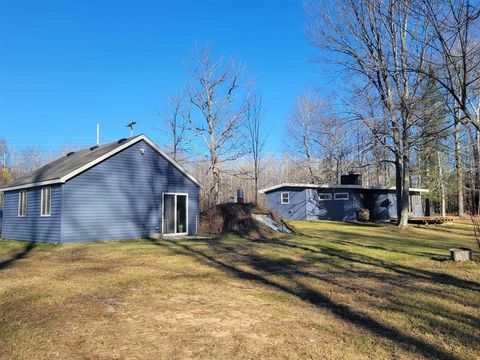
M 397 217 L 396 190 L 386 186 L 363 186 L 353 174 L 342 184 L 279 184 L 260 190 L 267 207 L 287 220 L 355 221 L 360 209 L 368 209 L 371 221 Z M 410 189 L 410 214 L 422 216 L 422 194 L 426 189 Z

